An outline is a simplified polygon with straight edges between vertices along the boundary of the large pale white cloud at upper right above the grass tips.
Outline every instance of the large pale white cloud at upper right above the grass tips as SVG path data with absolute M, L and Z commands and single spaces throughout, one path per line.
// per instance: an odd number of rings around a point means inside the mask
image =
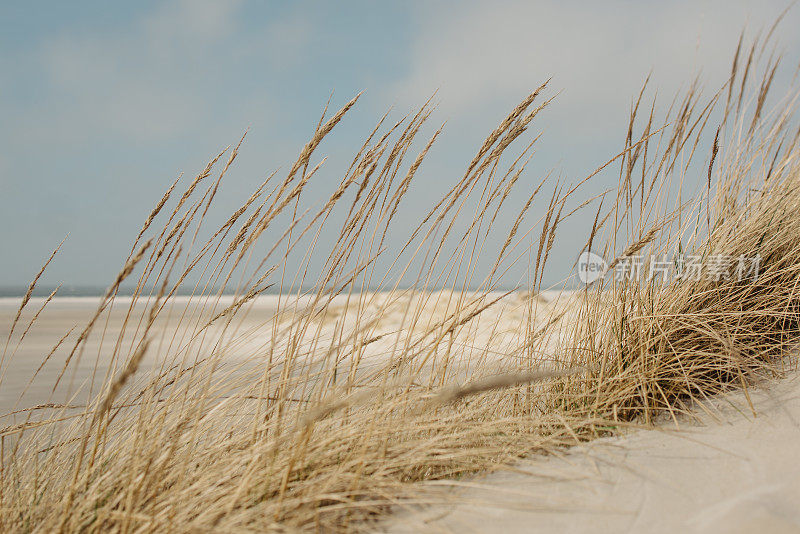
M 410 50 L 409 74 L 393 87 L 414 103 L 439 89 L 448 115 L 492 102 L 507 104 L 553 77 L 558 106 L 573 127 L 625 113 L 647 73 L 671 96 L 678 84 L 703 79 L 721 85 L 745 24 L 771 24 L 783 2 L 492 2 L 458 9 L 426 4 Z M 797 22 L 784 21 L 783 29 Z M 786 39 L 797 44 L 794 33 Z

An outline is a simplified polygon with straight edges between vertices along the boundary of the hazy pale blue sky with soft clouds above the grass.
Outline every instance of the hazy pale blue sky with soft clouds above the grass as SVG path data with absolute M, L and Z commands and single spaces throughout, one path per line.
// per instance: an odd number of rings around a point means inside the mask
M 333 172 L 382 113 L 391 107 L 399 117 L 436 92 L 431 120 L 445 129 L 401 215 L 409 224 L 460 177 L 498 121 L 547 79 L 557 97 L 534 125 L 544 135 L 522 188 L 549 170 L 576 182 L 622 148 L 631 100 L 648 73 L 659 95 L 698 74 L 715 90 L 740 32 L 752 38 L 787 6 L 4 2 L 0 286 L 26 285 L 67 234 L 43 282 L 107 285 L 181 172 L 196 174 L 249 128 L 216 207 L 227 215 L 267 173 L 294 161 L 331 94 L 336 106 L 365 91 L 320 149 L 332 156 Z M 779 50 L 795 64 L 798 23 L 794 8 L 776 32 Z M 611 173 L 593 187 L 615 182 Z M 500 224 L 515 216 L 504 213 Z M 579 252 L 569 233 L 585 230 L 581 217 L 557 244 L 557 269 Z

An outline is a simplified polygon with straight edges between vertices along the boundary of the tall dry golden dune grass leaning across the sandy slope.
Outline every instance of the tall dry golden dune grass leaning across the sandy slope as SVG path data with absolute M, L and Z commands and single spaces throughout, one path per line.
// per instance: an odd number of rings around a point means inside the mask
M 529 261 L 527 290 L 543 289 L 557 229 L 585 183 L 547 178 L 511 228 L 497 227 L 536 138 L 506 152 L 549 103 L 539 103 L 544 86 L 501 121 L 415 228 L 397 228 L 396 216 L 441 132 L 417 141 L 429 104 L 388 126 L 383 117 L 328 200 L 307 208 L 315 151 L 356 98 L 321 119 L 288 173 L 269 176 L 219 228 L 206 228 L 206 214 L 238 145 L 171 211 L 175 185 L 158 202 L 96 313 L 59 341 L 72 343 L 60 376 L 75 376 L 86 340 L 121 306 L 120 286 L 138 277 L 124 319 L 134 341 L 105 340 L 109 371 L 81 386 L 92 402 L 21 410 L 1 431 L 2 529 L 360 528 L 419 499 L 419 481 L 631 422 L 678 423 L 693 400 L 779 372 L 800 320 L 800 149 L 791 95 L 767 106 L 778 62 L 755 80 L 767 44 L 742 46 L 725 87 L 704 99 L 693 85 L 662 122 L 650 111 L 639 124 L 643 89 L 623 152 L 601 167 L 619 164 L 618 187 L 576 209 L 596 207 L 587 247 L 606 257 L 757 253 L 757 278 L 607 277 L 565 295 L 561 312 L 498 292 L 520 261 Z M 536 210 L 541 217 L 526 222 Z M 338 237 L 326 239 L 333 224 Z M 405 245 L 389 250 L 390 233 L 404 230 Z M 494 266 L 476 279 L 476 259 L 493 243 L 503 243 Z M 176 304 L 186 287 L 205 299 Z M 267 289 L 280 295 L 274 317 L 243 330 Z M 184 333 L 158 332 L 165 315 Z M 250 356 L 229 361 L 243 346 Z M 155 364 L 141 371 L 148 351 Z M 57 365 L 53 354 L 42 365 Z

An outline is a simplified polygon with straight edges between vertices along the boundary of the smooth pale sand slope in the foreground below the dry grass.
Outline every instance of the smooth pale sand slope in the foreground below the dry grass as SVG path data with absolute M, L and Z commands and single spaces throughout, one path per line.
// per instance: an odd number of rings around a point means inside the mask
M 453 482 L 390 532 L 800 532 L 800 376 L 714 399 L 680 430 L 635 430 Z M 437 498 L 437 500 L 439 500 Z

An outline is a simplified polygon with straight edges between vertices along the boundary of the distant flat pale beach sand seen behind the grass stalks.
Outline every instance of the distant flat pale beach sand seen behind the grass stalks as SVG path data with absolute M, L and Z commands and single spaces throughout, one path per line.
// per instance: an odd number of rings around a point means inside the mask
M 503 293 L 490 293 L 483 304 L 503 297 Z M 345 346 L 344 352 L 351 344 L 349 336 L 358 333 L 360 339 L 381 337 L 370 343 L 357 355 L 359 374 L 357 378 L 368 383 L 374 370 L 382 368 L 388 358 L 401 354 L 409 339 L 414 339 L 417 331 L 426 331 L 431 325 L 442 324 L 456 307 L 458 296 L 451 292 L 399 292 L 391 301 L 386 293 L 365 293 L 362 295 L 339 295 L 327 304 L 324 313 L 318 313 L 320 306 L 312 309 L 309 297 L 279 297 L 265 295 L 256 298 L 236 314 L 235 320 L 226 327 L 225 320 L 217 320 L 211 328 L 202 331 L 202 325 L 210 318 L 231 304 L 232 297 L 223 296 L 219 301 L 208 298 L 175 297 L 171 308 L 168 307 L 159 316 L 151 332 L 150 350 L 137 373 L 146 375 L 149 369 L 157 369 L 165 358 L 169 365 L 186 357 L 188 362 L 195 358 L 207 357 L 213 352 L 221 353 L 222 361 L 258 366 L 265 362 L 270 345 L 275 341 L 274 353 L 280 354 L 288 343 L 298 343 L 300 352 L 308 355 L 308 365 L 321 364 L 325 361 L 325 353 L 332 342 Z M 469 297 L 465 297 L 469 300 Z M 501 298 L 474 320 L 470 321 L 459 334 L 452 339 L 451 372 L 467 372 L 467 363 L 459 367 L 460 362 L 482 360 L 507 361 L 516 365 L 508 355 L 515 354 L 517 347 L 524 340 L 527 314 L 533 307 L 537 308 L 536 316 L 541 320 L 549 317 L 552 308 L 564 304 L 565 299 L 558 298 L 553 292 L 531 302 L 527 295 L 515 293 Z M 0 298 L 0 343 L 4 344 L 14 315 L 19 307 L 19 298 Z M 107 373 L 115 374 L 125 358 L 131 353 L 131 347 L 138 342 L 141 334 L 140 318 L 146 308 L 143 303 L 137 304 L 132 320 L 125 326 L 120 349 L 120 358 L 111 361 L 115 344 L 130 306 L 130 297 L 117 297 L 111 313 L 103 315 L 97 322 L 84 349 L 73 357 L 70 369 L 62 379 L 58 390 L 53 393 L 55 383 L 63 368 L 66 358 L 77 340 L 78 334 L 86 325 L 100 302 L 99 298 L 66 297 L 56 298 L 47 305 L 36 320 L 23 342 L 17 347 L 17 340 L 33 315 L 44 303 L 43 298 L 33 298 L 28 303 L 15 329 L 14 337 L 6 351 L 6 359 L 0 369 L 0 426 L 18 421 L 10 421 L 3 414 L 42 405 L 46 403 L 67 402 L 70 405 L 85 403 L 87 398 L 97 393 L 97 386 Z M 216 304 L 215 304 L 216 302 Z M 469 310 L 480 307 L 477 303 Z M 532 307 L 533 305 L 533 307 Z M 276 314 L 280 306 L 280 312 Z M 360 309 L 360 313 L 356 310 Z M 418 312 L 418 313 L 417 313 Z M 468 313 L 468 312 L 465 312 Z M 297 328 L 293 327 L 296 315 L 311 314 L 311 326 L 296 338 Z M 417 318 L 415 319 L 415 315 Z M 452 318 L 448 318 L 452 321 Z M 52 355 L 50 360 L 38 372 L 31 383 L 31 377 L 47 356 L 54 344 L 71 328 L 75 330 Z M 408 331 L 414 332 L 409 338 Z M 276 337 L 277 336 L 277 337 Z M 223 339 L 224 338 L 224 339 Z M 102 341 L 102 343 L 101 343 Z M 446 345 L 446 344 L 443 344 Z M 2 346 L 0 346 L 2 351 Z M 79 365 L 75 361 L 80 355 Z M 430 367 L 437 363 L 436 355 L 427 364 Z M 346 365 L 345 362 L 342 363 Z M 109 369 L 109 367 L 112 367 Z M 459 371 L 460 369 L 460 371 Z M 276 371 L 277 372 L 277 371 Z M 498 372 L 501 372 L 498 369 Z M 76 397 L 69 398 L 73 392 L 80 390 Z M 23 395 L 20 399 L 20 395 Z

